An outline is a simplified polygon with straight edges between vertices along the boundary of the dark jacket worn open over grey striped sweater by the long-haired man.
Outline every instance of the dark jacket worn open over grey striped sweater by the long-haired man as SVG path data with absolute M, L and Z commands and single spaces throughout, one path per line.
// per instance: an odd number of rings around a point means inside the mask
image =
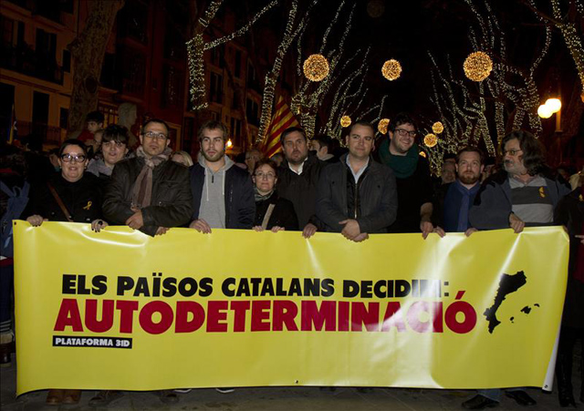
M 545 176 L 547 190 L 554 209 L 558 201 L 568 194 L 569 189 L 558 180 Z M 485 180 L 476 194 L 474 205 L 469 211 L 471 225 L 478 230 L 499 230 L 509 228 L 509 215 L 513 210 L 511 186 L 505 170 Z

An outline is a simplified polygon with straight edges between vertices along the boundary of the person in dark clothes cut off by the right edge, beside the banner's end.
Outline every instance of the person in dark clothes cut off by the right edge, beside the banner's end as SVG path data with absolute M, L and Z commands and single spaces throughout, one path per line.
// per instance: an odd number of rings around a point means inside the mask
M 558 399 L 562 407 L 576 407 L 572 391 L 572 365 L 574 345 L 578 340 L 584 349 L 584 174 L 580 175 L 579 187 L 558 202 L 555 220 L 568 228 L 569 235 L 568 288 L 556 362 Z M 580 402 L 584 402 L 584 360 L 580 370 Z

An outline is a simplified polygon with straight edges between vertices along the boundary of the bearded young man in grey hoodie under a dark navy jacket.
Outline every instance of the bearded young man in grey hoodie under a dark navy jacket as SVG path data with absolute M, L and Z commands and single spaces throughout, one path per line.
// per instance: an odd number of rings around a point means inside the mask
M 199 162 L 191 169 L 193 216 L 190 227 L 251 229 L 255 220 L 254 186 L 247 171 L 225 155 L 227 128 L 210 120 L 199 129 Z

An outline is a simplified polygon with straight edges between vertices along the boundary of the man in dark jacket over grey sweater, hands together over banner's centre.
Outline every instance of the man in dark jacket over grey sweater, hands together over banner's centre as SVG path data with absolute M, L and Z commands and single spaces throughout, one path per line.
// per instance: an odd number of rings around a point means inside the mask
M 387 232 L 397 215 L 395 177 L 389 167 L 370 158 L 374 141 L 370 123 L 353 123 L 346 138 L 349 153 L 322 170 L 318 181 L 318 219 L 326 231 L 351 241 Z

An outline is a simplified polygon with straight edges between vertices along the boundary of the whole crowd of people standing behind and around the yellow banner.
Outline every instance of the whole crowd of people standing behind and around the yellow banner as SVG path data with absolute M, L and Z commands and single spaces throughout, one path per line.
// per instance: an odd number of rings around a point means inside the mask
M 554 176 L 541 143 L 529 132 L 506 135 L 498 162 L 485 159 L 481 149 L 464 147 L 444 159 L 442 178 L 433 179 L 415 143 L 416 121 L 407 114 L 393 118 L 389 135 L 377 140 L 370 123 L 351 124 L 345 149 L 338 139 L 309 140 L 303 128 L 287 128 L 280 138 L 282 153 L 271 159 L 259 149 L 230 158 L 227 128 L 216 120 L 199 129 L 196 161 L 172 151 L 162 119 L 146 121 L 135 143 L 126 127 L 103 128 L 99 113 L 89 115 L 88 131 L 47 158 L 7 152 L 1 165 L 2 214 L 11 209 L 11 218 L 36 227 L 44 221 L 84 222 L 94 231 L 127 225 L 150 236 L 173 227 L 208 235 L 215 229 L 299 231 L 307 239 L 328 231 L 358 242 L 374 233 L 420 232 L 425 239 L 431 233 L 470 236 L 480 230 L 567 226 L 569 279 L 557 379 L 559 404 L 576 405 L 571 373 L 574 345 L 584 341 L 584 172 L 571 178 L 573 187 Z M 10 227 L 2 230 L 0 360 L 7 364 L 14 349 L 8 303 L 13 274 L 11 250 L 4 247 Z M 501 394 L 481 390 L 463 406 L 493 407 Z M 163 402 L 178 400 L 172 390 L 160 395 Z M 75 404 L 79 396 L 78 390 L 50 390 L 47 404 Z M 102 391 L 90 404 L 107 405 L 120 396 Z M 522 406 L 535 404 L 521 387 L 506 390 L 506 396 Z M 584 402 L 584 387 L 579 399 Z

